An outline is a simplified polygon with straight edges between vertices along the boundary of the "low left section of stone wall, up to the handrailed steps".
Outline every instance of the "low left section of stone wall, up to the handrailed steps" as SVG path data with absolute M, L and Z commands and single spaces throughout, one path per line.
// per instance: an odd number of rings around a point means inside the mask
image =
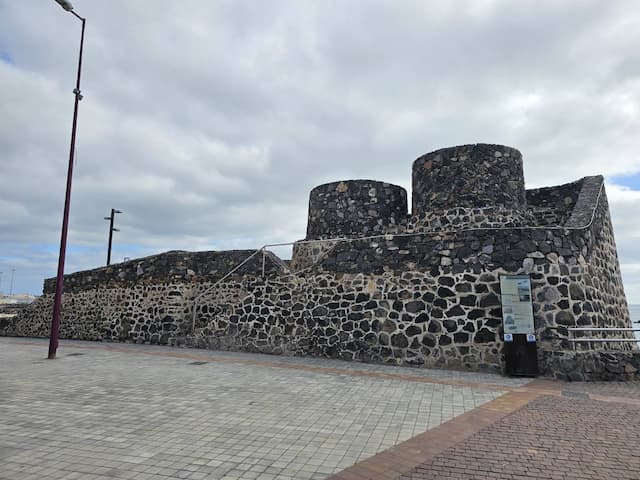
M 65 275 L 60 337 L 167 344 L 191 332 L 194 302 L 212 285 L 226 297 L 239 280 L 285 271 L 269 251 L 171 251 Z M 44 294 L 0 335 L 47 336 L 54 292 L 55 278 L 45 280 Z

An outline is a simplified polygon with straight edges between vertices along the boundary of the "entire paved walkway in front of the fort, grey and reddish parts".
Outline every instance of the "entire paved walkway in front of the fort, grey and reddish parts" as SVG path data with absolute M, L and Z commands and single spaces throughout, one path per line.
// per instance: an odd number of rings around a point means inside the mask
M 46 352 L 0 338 L 0 479 L 640 478 L 638 384 L 76 341 Z

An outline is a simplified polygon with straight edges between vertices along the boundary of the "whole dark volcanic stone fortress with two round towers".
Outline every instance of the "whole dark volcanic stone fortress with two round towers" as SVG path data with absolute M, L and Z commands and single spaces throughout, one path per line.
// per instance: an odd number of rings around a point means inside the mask
M 415 160 L 412 190 L 408 213 L 396 185 L 314 188 L 290 261 L 174 251 L 67 275 L 61 338 L 500 372 L 500 275 L 526 274 L 543 374 L 635 375 L 635 344 L 569 342 L 631 326 L 601 176 L 526 190 L 518 150 L 473 144 Z M 54 285 L 0 334 L 48 336 Z

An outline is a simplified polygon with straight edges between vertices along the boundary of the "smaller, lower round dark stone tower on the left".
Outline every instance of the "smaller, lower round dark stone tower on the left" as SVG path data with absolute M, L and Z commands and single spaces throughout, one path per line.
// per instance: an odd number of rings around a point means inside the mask
M 395 232 L 406 218 L 402 187 L 373 180 L 327 183 L 309 195 L 307 240 Z

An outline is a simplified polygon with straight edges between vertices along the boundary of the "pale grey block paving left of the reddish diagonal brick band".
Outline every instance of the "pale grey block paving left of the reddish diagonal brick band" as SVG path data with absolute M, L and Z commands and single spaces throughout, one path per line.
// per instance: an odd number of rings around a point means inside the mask
M 305 366 L 524 383 L 323 359 L 98 346 L 62 342 L 49 361 L 46 341 L 0 338 L 0 478 L 326 478 L 502 392 Z M 169 356 L 180 354 L 225 361 Z

